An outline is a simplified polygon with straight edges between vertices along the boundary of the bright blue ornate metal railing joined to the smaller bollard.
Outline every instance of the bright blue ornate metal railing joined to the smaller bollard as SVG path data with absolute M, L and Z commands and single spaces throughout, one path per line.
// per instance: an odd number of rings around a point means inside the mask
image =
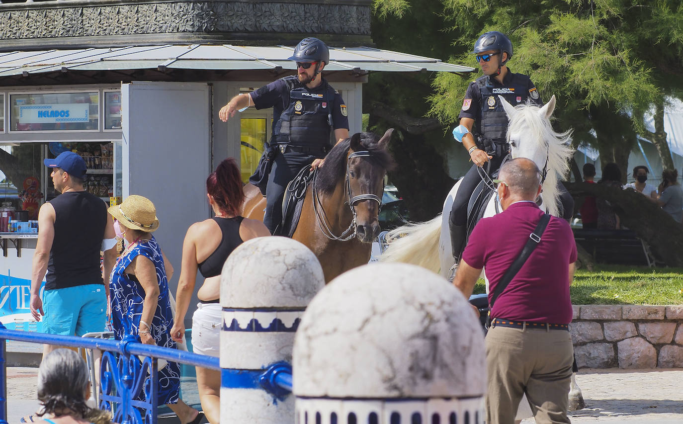
M 145 384 L 157 380 L 157 360 L 165 359 L 175 363 L 195 365 L 208 369 L 221 370 L 219 358 L 184 352 L 160 346 L 137 343 L 129 336 L 124 340 L 89 339 L 75 336 L 48 335 L 44 333 L 28 333 L 8 330 L 0 323 L 0 424 L 7 424 L 7 380 L 5 363 L 6 340 L 25 341 L 61 345 L 70 348 L 85 348 L 103 351 L 100 367 L 100 408 L 113 412 L 113 422 L 122 424 L 156 424 L 156 384 Z M 117 357 L 117 355 L 118 357 Z M 144 356 L 142 363 L 137 356 Z M 226 372 L 227 371 L 227 372 Z M 232 375 L 235 378 L 231 377 Z M 260 371 L 223 369 L 221 380 L 223 385 L 239 384 L 239 374 L 256 374 L 255 380 L 262 388 L 281 399 L 292 391 L 292 367 L 288 363 L 275 363 Z M 119 405 L 116 407 L 116 405 Z M 144 419 L 140 412 L 144 411 Z

